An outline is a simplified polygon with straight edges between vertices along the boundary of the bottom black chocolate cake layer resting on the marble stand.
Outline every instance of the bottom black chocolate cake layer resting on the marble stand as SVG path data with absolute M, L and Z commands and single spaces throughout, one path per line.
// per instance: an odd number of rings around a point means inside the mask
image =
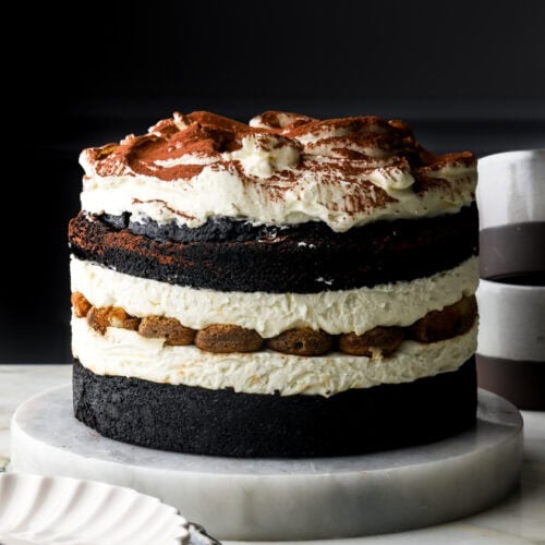
M 431 443 L 475 422 L 471 358 L 456 372 L 322 396 L 265 396 L 73 366 L 75 416 L 101 435 L 144 447 L 238 458 L 328 457 Z

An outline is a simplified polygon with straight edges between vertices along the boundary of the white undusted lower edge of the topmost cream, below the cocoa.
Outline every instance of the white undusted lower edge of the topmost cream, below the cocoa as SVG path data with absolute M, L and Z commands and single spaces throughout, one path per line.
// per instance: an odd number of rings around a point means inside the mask
M 403 170 L 387 164 L 350 180 L 308 170 L 298 173 L 294 182 L 271 183 L 266 177 L 256 177 L 253 183 L 247 183 L 234 168 L 221 164 L 207 165 L 191 180 L 165 181 L 132 171 L 97 175 L 85 153 L 81 162 L 86 172 L 81 193 L 82 210 L 131 213 L 136 221 L 152 218 L 159 223 L 175 221 L 189 227 L 202 226 L 209 217 L 227 216 L 254 225 L 324 221 L 334 231 L 343 232 L 382 219 L 457 213 L 474 201 L 476 185 L 475 169 L 462 165 L 431 173 L 450 183 L 417 194 L 411 186 L 414 179 L 409 167 Z M 198 158 L 193 162 L 198 164 Z M 267 159 L 266 165 L 270 164 Z M 258 168 L 262 167 L 252 167 Z M 388 189 L 391 201 L 383 202 L 383 189 Z M 366 206 L 359 204 L 362 195 Z

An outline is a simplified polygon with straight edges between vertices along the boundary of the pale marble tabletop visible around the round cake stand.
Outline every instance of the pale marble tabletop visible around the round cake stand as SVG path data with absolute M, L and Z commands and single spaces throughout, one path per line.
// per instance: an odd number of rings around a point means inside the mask
M 70 373 L 69 365 L 0 365 L 0 471 L 9 460 L 9 427 L 16 407 L 35 393 L 69 383 Z M 446 524 L 341 542 L 347 545 L 545 544 L 545 413 L 521 411 L 521 414 L 524 421 L 524 458 L 520 486 L 499 505 Z M 225 543 L 234 545 L 237 542 Z M 334 542 L 314 543 L 326 545 Z

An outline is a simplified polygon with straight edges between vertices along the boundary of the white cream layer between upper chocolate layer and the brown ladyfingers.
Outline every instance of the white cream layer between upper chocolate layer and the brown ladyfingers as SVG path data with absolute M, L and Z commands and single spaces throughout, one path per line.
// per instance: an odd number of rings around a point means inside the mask
M 186 327 L 233 324 L 269 338 L 311 327 L 331 335 L 362 335 L 375 326 L 409 326 L 431 311 L 472 295 L 477 258 L 410 282 L 318 293 L 214 291 L 137 278 L 92 262 L 71 259 L 72 291 L 95 306 L 120 306 L 138 317 L 169 316 Z

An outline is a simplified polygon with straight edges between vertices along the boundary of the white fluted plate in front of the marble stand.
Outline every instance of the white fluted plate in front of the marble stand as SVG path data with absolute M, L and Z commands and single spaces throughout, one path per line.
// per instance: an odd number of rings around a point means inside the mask
M 0 544 L 181 545 L 187 521 L 153 496 L 95 481 L 0 474 Z

